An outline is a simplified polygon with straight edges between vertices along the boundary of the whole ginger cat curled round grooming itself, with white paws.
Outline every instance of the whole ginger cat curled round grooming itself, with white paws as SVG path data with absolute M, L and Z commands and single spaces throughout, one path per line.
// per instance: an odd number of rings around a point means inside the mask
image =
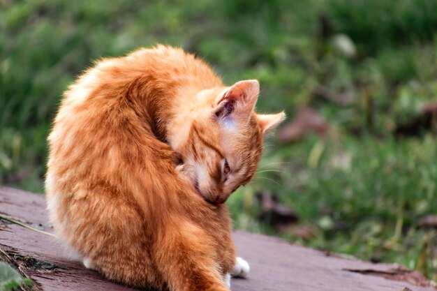
M 66 91 L 49 137 L 50 220 L 86 267 L 139 288 L 229 290 L 223 204 L 251 181 L 262 138 L 255 80 L 225 87 L 200 59 L 159 45 L 103 59 Z

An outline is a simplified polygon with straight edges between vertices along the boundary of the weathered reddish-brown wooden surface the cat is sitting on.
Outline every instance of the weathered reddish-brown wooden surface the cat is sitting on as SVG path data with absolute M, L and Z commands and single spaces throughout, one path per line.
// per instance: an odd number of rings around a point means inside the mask
M 0 215 L 51 231 L 43 195 L 0 188 Z M 235 232 L 234 237 L 239 255 L 251 264 L 251 274 L 232 279 L 233 291 L 436 290 L 417 272 L 394 264 L 329 256 L 259 234 Z M 34 290 L 133 290 L 68 258 L 53 237 L 5 220 L 0 220 L 0 251 L 3 260 L 36 283 Z

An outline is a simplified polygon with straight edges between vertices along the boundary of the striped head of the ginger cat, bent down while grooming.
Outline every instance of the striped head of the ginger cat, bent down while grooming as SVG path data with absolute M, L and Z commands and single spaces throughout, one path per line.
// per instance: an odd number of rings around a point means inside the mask
M 255 175 L 263 138 L 278 126 L 285 114 L 256 114 L 260 85 L 240 81 L 232 87 L 200 91 L 193 107 L 191 128 L 177 151 L 182 172 L 196 190 L 212 204 L 225 202 L 239 186 Z

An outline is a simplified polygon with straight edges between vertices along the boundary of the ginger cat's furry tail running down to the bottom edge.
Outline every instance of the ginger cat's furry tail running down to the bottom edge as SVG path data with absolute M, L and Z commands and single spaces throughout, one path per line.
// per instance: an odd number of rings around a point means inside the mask
M 216 241 L 184 218 L 172 219 L 158 236 L 157 266 L 175 291 L 229 291 L 226 275 L 221 274 Z

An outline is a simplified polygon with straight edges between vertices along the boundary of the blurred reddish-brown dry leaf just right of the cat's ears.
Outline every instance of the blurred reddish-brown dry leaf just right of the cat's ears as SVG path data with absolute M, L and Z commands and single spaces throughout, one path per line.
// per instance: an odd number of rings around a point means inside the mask
M 330 132 L 327 122 L 320 114 L 311 108 L 302 108 L 295 119 L 290 121 L 280 132 L 280 142 L 295 142 L 300 140 L 306 133 L 315 132 L 320 136 L 326 136 Z

